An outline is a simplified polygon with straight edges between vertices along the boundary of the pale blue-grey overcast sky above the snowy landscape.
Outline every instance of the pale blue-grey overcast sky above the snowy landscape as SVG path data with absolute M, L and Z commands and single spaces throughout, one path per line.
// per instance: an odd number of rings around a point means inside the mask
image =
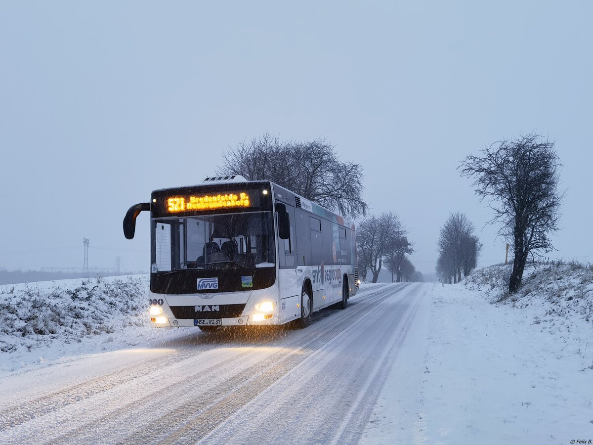
M 568 189 L 553 256 L 593 261 L 593 2 L 2 2 L 0 267 L 148 270 L 151 190 L 202 182 L 238 141 L 327 138 L 364 166 L 373 212 L 432 272 L 465 212 L 455 170 L 519 132 L 556 140 Z

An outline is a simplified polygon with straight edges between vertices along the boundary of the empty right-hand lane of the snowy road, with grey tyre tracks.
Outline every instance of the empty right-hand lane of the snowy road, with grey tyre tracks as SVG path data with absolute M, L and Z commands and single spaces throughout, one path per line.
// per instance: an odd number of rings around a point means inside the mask
M 330 443 L 334 438 L 356 443 L 387 376 L 385 361 L 393 360 L 394 340 L 404 341 L 420 304 L 394 317 L 387 307 L 401 307 L 401 298 L 377 304 L 366 314 L 371 325 L 353 323 L 340 341 L 327 345 L 323 357 L 295 367 L 203 443 L 246 443 L 253 437 L 262 444 Z M 345 407 L 350 409 L 345 412 Z M 272 418 L 270 431 L 266 425 Z

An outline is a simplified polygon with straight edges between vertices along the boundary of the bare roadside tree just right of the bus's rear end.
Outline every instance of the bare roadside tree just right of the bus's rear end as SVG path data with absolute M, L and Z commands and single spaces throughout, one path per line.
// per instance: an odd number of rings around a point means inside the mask
M 361 258 L 365 258 L 366 266 L 371 269 L 372 282 L 376 283 L 383 265 L 395 240 L 404 233 L 399 217 L 393 212 L 372 215 L 362 220 L 356 230 L 356 244 L 359 249 L 359 268 Z

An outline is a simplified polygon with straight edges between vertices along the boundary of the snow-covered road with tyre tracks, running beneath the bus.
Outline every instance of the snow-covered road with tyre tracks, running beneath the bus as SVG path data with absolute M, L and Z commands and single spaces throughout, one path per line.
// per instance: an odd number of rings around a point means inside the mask
M 368 286 L 303 330 L 188 330 L 7 377 L 0 442 L 356 443 L 398 352 L 422 361 L 432 288 Z

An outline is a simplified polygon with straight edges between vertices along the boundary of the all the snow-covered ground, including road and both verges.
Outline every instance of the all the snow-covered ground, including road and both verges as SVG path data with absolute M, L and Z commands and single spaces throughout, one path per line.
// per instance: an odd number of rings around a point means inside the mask
M 511 297 L 503 266 L 363 285 L 248 337 L 151 328 L 146 276 L 3 287 L 0 442 L 588 443 L 593 271 L 546 267 Z

